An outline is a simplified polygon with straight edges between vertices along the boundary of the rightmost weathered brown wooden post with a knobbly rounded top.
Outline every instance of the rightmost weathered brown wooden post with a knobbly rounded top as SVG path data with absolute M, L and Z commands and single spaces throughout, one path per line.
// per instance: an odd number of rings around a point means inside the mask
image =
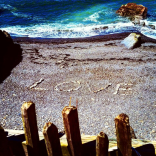
M 119 155 L 132 156 L 129 117 L 123 113 L 118 115 L 115 118 L 115 128 Z

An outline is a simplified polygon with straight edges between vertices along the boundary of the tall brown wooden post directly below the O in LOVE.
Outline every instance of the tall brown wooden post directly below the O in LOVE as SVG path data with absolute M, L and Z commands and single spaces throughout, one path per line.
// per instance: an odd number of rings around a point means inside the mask
M 77 108 L 75 106 L 66 106 L 62 111 L 62 116 L 70 152 L 72 156 L 81 156 L 82 141 Z

